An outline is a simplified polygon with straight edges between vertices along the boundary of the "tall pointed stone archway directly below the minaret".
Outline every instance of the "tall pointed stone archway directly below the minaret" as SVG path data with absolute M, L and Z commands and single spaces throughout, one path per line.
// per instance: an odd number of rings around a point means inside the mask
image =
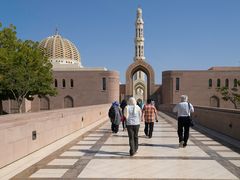
M 140 81 L 134 83 L 134 74 L 139 71 L 146 75 L 146 84 Z M 126 71 L 126 97 L 134 96 L 136 99 L 141 99 L 136 94 L 136 92 L 139 92 L 146 100 L 154 93 L 154 86 L 154 71 L 151 65 L 145 61 L 137 60 L 128 67 Z

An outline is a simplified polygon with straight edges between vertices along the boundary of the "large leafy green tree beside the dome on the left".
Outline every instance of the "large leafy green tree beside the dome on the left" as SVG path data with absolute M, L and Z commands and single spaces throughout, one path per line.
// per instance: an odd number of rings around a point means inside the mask
M 21 112 L 25 98 L 55 95 L 52 82 L 52 65 L 38 43 L 18 39 L 13 25 L 0 30 L 0 100 L 16 100 Z

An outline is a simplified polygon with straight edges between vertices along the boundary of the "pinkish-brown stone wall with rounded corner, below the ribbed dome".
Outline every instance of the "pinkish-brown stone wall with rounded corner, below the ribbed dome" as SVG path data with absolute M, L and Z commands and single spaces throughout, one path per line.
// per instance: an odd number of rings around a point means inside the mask
M 64 97 L 73 99 L 73 106 L 89 106 L 111 103 L 119 100 L 119 74 L 116 71 L 54 71 L 54 80 L 58 82 L 57 92 L 54 97 L 49 97 L 50 110 L 64 108 Z M 102 78 L 106 78 L 106 90 L 102 89 Z M 63 87 L 62 80 L 65 79 L 66 86 Z M 73 87 L 70 82 L 73 80 Z M 53 83 L 53 85 L 55 85 Z M 40 111 L 40 99 L 36 96 L 28 106 L 27 112 Z M 23 105 L 25 107 L 25 105 Z M 3 102 L 4 111 L 11 112 L 10 101 Z M 24 112 L 25 108 L 23 108 Z

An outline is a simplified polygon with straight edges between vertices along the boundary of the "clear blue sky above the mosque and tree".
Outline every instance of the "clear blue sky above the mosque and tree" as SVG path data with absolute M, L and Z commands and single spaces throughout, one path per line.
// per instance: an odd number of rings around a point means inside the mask
M 83 66 L 117 70 L 125 83 L 139 5 L 156 83 L 166 70 L 240 66 L 240 0 L 1 0 L 0 22 L 34 41 L 57 27 L 77 46 Z

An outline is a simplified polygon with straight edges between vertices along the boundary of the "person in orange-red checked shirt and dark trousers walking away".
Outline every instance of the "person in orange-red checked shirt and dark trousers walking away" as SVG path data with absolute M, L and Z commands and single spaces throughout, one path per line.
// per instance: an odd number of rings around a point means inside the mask
M 147 104 L 143 107 L 142 120 L 143 118 L 145 121 L 144 133 L 148 138 L 152 138 L 154 120 L 157 121 L 157 110 L 151 99 L 148 99 Z

